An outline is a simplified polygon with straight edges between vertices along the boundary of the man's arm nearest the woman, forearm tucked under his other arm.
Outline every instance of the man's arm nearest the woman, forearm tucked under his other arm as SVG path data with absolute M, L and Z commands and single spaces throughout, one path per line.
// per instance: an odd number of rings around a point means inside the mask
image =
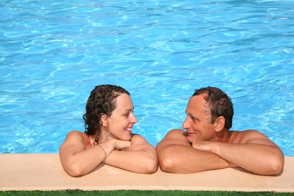
M 195 173 L 229 167 L 220 156 L 188 146 L 185 131 L 171 130 L 157 145 L 156 151 L 162 170 L 173 173 Z

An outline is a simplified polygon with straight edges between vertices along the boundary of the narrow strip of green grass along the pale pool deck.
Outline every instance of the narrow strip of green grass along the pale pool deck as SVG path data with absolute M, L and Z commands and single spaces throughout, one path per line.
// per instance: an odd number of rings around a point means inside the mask
M 294 196 L 294 193 L 227 191 L 6 191 L 0 196 Z

